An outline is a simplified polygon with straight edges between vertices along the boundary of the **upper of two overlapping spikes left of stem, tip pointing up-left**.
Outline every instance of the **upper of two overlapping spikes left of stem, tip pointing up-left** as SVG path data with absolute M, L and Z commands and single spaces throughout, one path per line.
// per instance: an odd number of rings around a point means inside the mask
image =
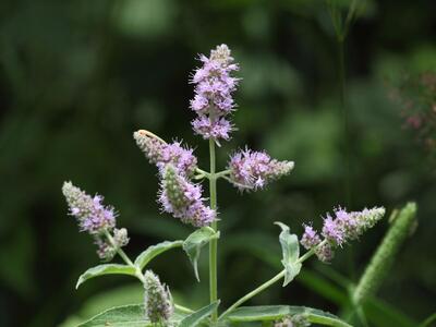
M 167 144 L 144 130 L 134 132 L 133 137 L 149 162 L 157 165 L 158 168 L 172 164 L 186 175 L 191 175 L 195 171 L 197 158 L 193 155 L 193 149 L 183 147 L 181 142 L 174 141 Z

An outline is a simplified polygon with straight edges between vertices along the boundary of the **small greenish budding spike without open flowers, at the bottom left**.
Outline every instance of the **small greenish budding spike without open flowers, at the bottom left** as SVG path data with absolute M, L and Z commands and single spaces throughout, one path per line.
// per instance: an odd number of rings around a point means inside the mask
M 170 319 L 174 312 L 171 293 L 152 270 L 144 274 L 145 315 L 152 324 L 162 324 Z

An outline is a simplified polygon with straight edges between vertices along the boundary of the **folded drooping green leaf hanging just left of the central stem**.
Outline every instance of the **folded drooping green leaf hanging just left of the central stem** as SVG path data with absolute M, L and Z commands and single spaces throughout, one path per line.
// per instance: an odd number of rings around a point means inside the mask
M 203 227 L 194 231 L 183 242 L 183 250 L 190 257 L 191 264 L 194 267 L 196 279 L 199 281 L 197 262 L 202 247 L 210 242 L 210 240 L 218 239 L 219 232 L 216 232 L 210 227 Z

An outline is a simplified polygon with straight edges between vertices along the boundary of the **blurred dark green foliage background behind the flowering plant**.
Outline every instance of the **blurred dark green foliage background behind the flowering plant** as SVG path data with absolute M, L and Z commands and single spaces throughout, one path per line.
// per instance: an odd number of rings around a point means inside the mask
M 119 226 L 129 229 L 132 256 L 164 239 L 185 238 L 190 228 L 159 214 L 156 169 L 132 133 L 147 129 L 168 141 L 182 138 L 207 167 L 207 143 L 190 128 L 187 82 L 197 53 L 222 43 L 243 80 L 235 95 L 239 130 L 218 150 L 219 167 L 245 145 L 295 161 L 290 177 L 263 192 L 242 196 L 218 184 L 223 305 L 279 269 L 272 222 L 299 234 L 302 222 L 319 226 L 320 215 L 346 203 L 348 179 L 350 209 L 384 205 L 390 211 L 409 199 L 419 205 L 419 227 L 368 312 L 372 325 L 409 326 L 389 325 L 398 318 L 414 326 L 435 312 L 436 82 L 416 81 L 436 74 L 436 3 L 364 4 L 346 43 L 344 135 L 337 44 L 324 1 L 2 1 L 0 325 L 74 326 L 116 304 L 141 302 L 141 287 L 128 277 L 74 289 L 98 258 L 92 239 L 66 216 L 60 189 L 72 180 L 105 195 L 120 213 Z M 348 5 L 339 3 L 343 13 Z M 338 251 L 331 265 L 312 261 L 296 282 L 277 284 L 251 303 L 343 313 L 347 291 L 335 277 L 356 281 L 387 229 L 385 219 L 352 250 Z M 181 251 L 166 253 L 152 268 L 179 302 L 199 307 L 208 300 L 206 259 L 207 251 L 201 283 Z

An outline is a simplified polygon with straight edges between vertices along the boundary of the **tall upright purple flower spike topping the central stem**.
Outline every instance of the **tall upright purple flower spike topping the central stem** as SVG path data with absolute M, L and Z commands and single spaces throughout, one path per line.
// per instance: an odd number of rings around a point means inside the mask
M 228 116 L 234 110 L 232 93 L 237 89 L 239 78 L 232 77 L 231 72 L 239 66 L 233 63 L 230 49 L 226 45 L 216 47 L 210 57 L 199 56 L 203 66 L 198 68 L 192 83 L 195 85 L 195 96 L 191 100 L 191 109 L 198 117 L 192 121 L 194 132 L 203 138 L 230 140 L 233 130 Z

